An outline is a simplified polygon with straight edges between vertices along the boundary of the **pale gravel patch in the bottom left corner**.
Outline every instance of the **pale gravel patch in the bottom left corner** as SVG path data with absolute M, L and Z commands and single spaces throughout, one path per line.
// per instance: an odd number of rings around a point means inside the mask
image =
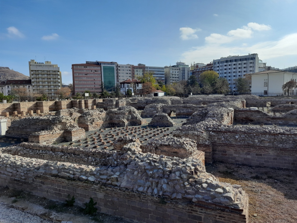
M 38 216 L 0 204 L 0 223 L 50 223 Z

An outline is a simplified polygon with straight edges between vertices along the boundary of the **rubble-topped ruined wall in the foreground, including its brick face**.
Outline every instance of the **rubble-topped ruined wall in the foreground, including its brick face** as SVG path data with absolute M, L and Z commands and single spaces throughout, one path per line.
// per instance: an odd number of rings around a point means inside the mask
M 178 139 L 167 142 L 172 140 Z M 195 144 L 188 139 L 181 141 L 187 148 L 178 149 L 187 154 L 178 154 L 187 158 L 143 153 L 139 142 L 131 142 L 118 152 L 21 143 L 1 148 L 0 183 L 60 201 L 74 195 L 76 205 L 81 206 L 93 197 L 101 212 L 137 222 L 156 218 L 158 213 L 150 211 L 153 206 L 165 211 L 172 222 L 180 222 L 173 219 L 183 212 L 186 219 L 204 223 L 222 216 L 223 222 L 247 222 L 248 197 L 241 187 L 219 182 L 207 173 L 198 158 L 188 156 Z M 61 185 L 64 189 L 57 190 Z M 170 205 L 162 206 L 161 197 Z M 139 208 L 127 205 L 133 201 L 138 201 Z M 138 218 L 144 211 L 150 212 Z

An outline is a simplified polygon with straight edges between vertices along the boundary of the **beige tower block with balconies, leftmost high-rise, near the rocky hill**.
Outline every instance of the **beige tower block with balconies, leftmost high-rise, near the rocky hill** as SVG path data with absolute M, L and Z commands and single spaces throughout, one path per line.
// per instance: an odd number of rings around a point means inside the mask
M 60 67 L 50 61 L 45 63 L 29 61 L 29 74 L 33 91 L 40 91 L 48 95 L 50 99 L 56 96 L 56 91 L 62 87 Z

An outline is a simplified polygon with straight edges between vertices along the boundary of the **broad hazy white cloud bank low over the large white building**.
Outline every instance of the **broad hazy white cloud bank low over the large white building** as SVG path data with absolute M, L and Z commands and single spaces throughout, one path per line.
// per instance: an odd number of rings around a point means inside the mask
M 257 53 L 262 60 L 277 58 L 281 56 L 297 55 L 297 33 L 289 34 L 277 41 L 266 41 L 247 47 L 241 46 L 226 47 L 217 44 L 206 44 L 201 47 L 194 47 L 182 54 L 181 60 L 190 63 L 203 59 L 203 61 L 212 61 L 225 56 L 247 55 L 248 53 Z M 203 58 L 201 58 L 203 55 Z

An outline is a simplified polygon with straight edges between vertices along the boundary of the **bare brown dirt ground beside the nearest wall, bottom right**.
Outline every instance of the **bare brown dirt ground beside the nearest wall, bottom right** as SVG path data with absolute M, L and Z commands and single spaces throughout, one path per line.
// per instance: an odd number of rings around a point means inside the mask
M 297 222 L 297 172 L 214 162 L 206 171 L 249 195 L 250 223 Z

